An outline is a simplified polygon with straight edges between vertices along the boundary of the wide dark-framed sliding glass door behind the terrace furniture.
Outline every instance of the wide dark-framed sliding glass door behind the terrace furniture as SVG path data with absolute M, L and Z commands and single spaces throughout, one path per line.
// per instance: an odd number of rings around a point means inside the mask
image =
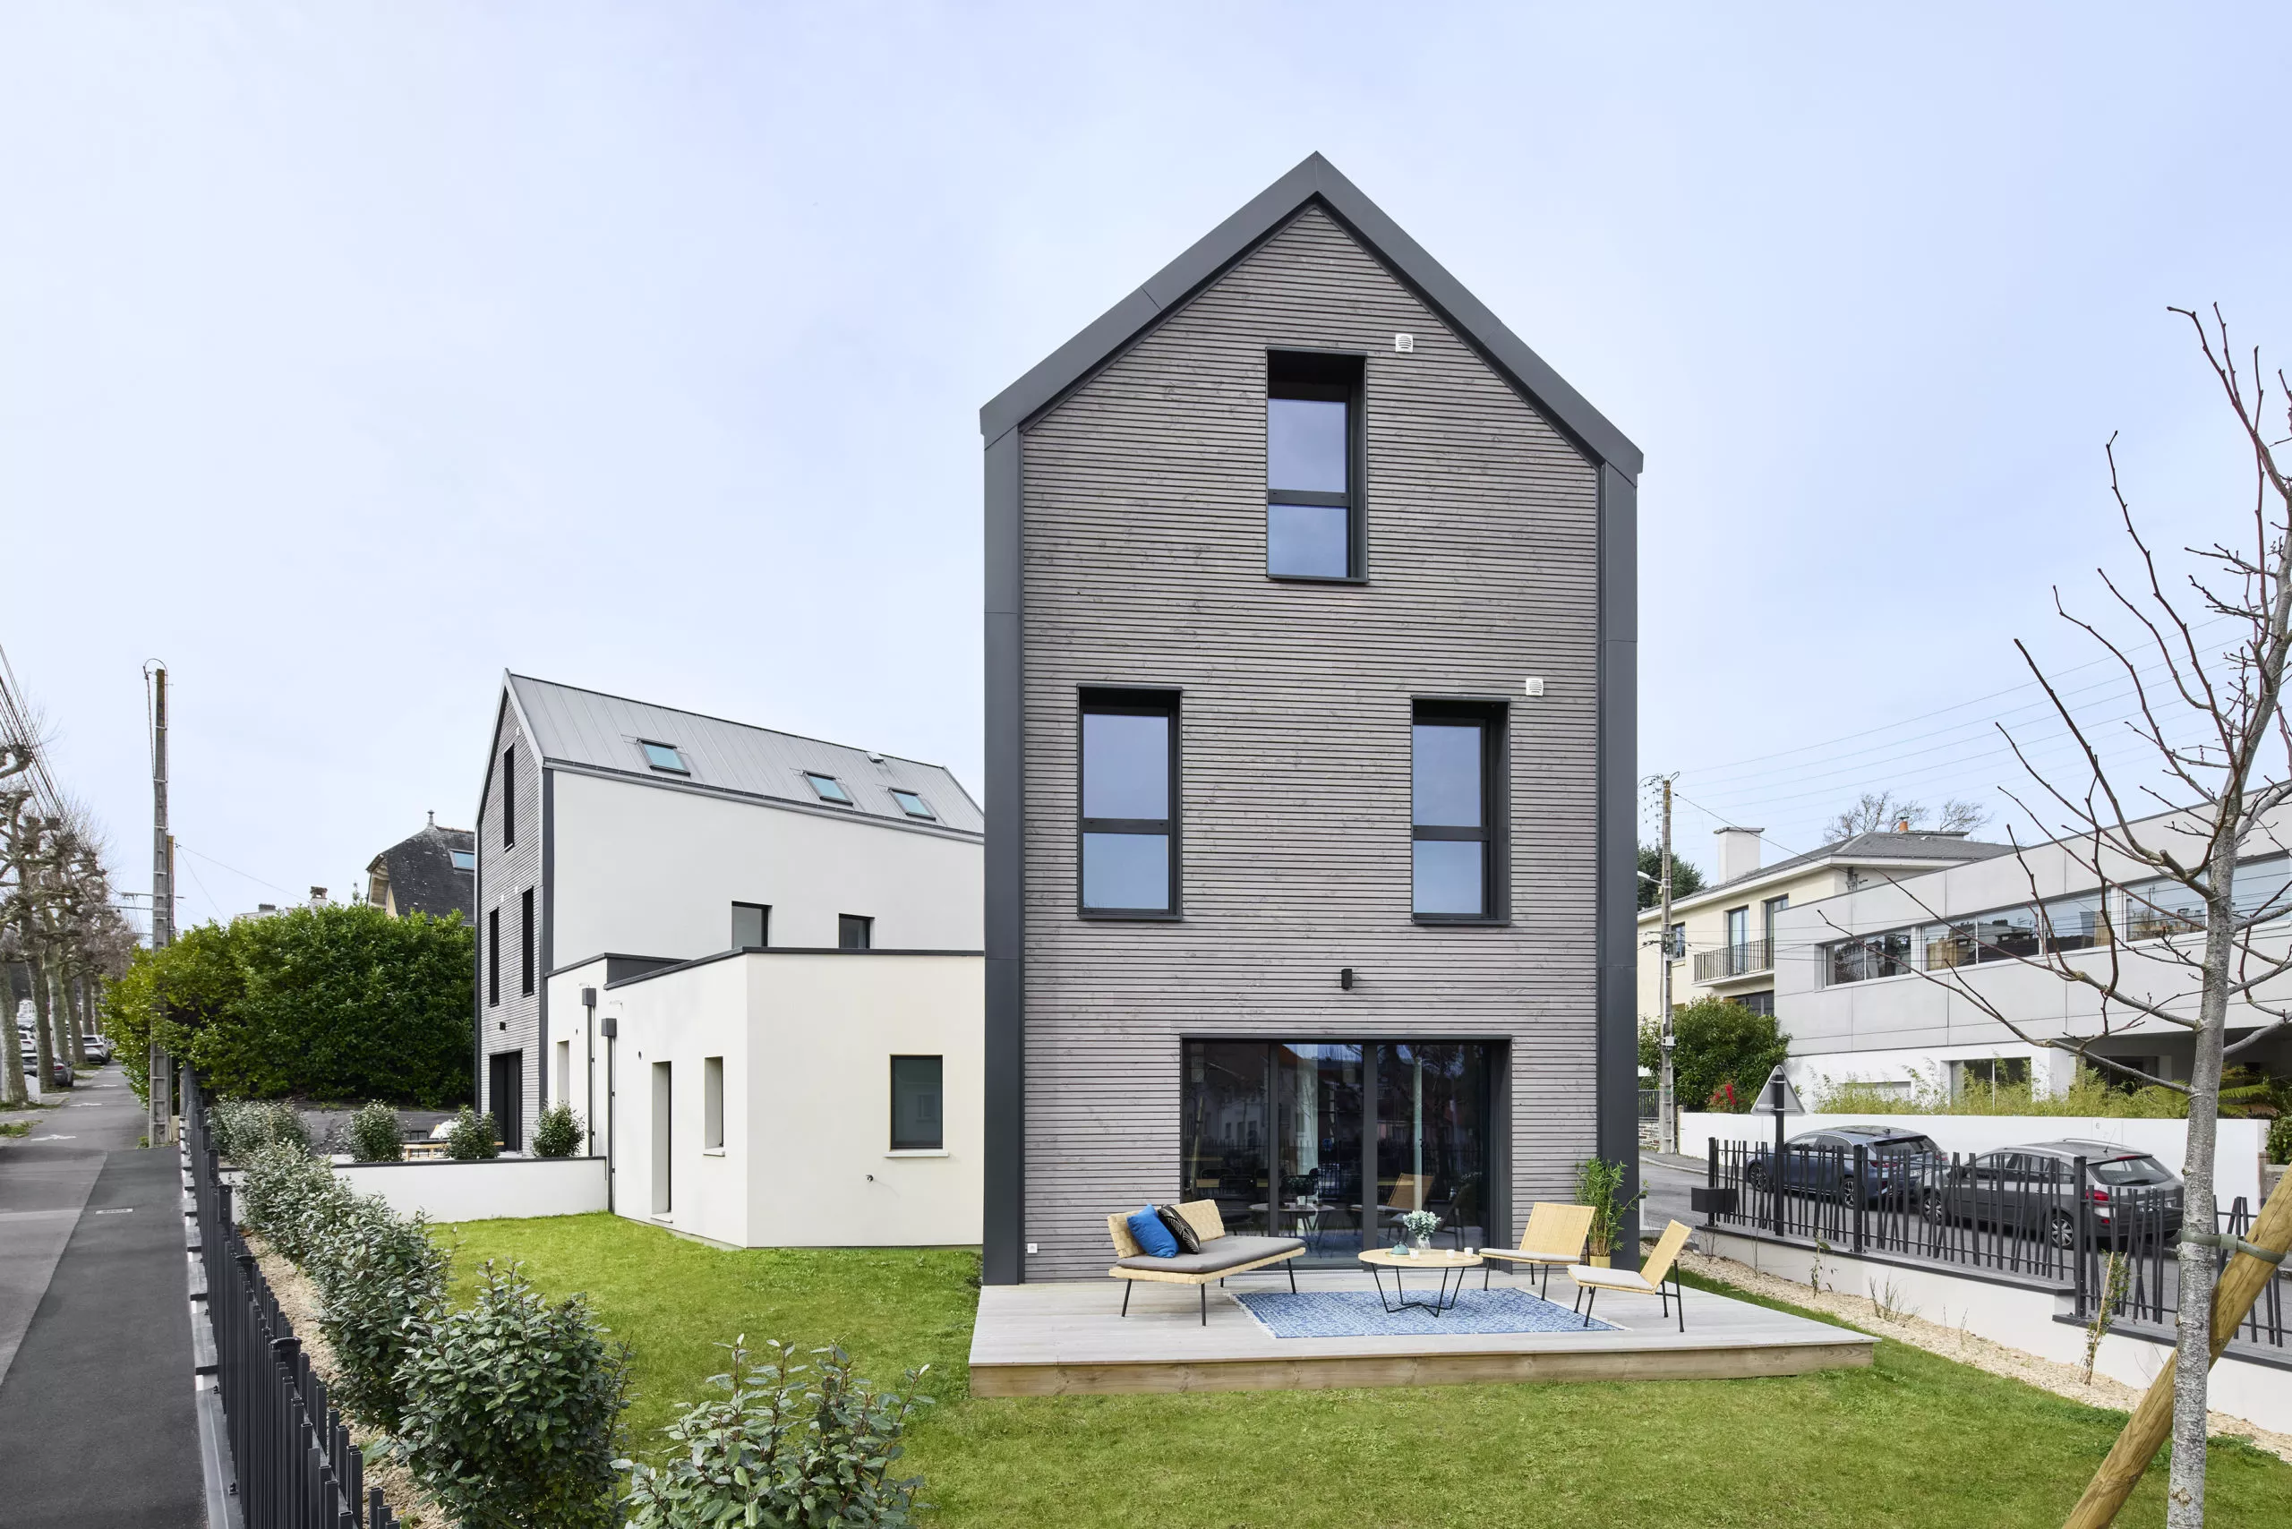
M 1389 1247 L 1442 1217 L 1442 1247 L 1492 1224 L 1492 1080 L 1501 1045 L 1465 1041 L 1187 1041 L 1180 1199 L 1229 1231 L 1304 1238 L 1309 1263 Z

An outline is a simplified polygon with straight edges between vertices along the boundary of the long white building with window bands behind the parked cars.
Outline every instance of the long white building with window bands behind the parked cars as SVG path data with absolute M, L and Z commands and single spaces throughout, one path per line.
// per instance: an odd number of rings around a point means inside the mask
M 2168 816 L 2143 825 L 2152 844 L 2175 844 Z M 2267 841 L 2244 848 L 2235 899 L 2246 910 L 2292 912 L 2292 814 Z M 2074 848 L 2074 853 L 2072 853 Z M 2203 910 L 2177 885 L 2111 867 L 2099 878 L 2079 867 L 2083 846 L 2040 844 L 2022 855 L 1868 885 L 1840 896 L 1795 903 L 1776 917 L 1774 1013 L 1790 1036 L 1790 1075 L 1802 1093 L 1836 1080 L 1875 1082 L 1909 1093 L 1921 1082 L 1953 1093 L 1992 1082 L 2028 1080 L 2049 1093 L 2067 1087 L 2077 1057 L 2035 1045 L 1989 1018 L 1948 983 L 1994 1004 L 2038 1041 L 2099 1034 L 2090 988 L 2024 965 L 2017 954 L 2047 947 L 2097 977 L 2118 963 L 2127 988 L 2196 1013 L 2196 972 L 2171 958 L 2171 944 L 2196 949 Z M 2042 917 L 2040 917 L 2042 910 Z M 2260 942 L 2281 949 L 2292 922 L 2264 926 Z M 2260 990 L 2285 1002 L 2292 981 Z M 2253 1004 L 2230 1009 L 2230 1043 L 2271 1025 Z M 2166 1020 L 2113 1013 L 2111 1038 L 2095 1048 L 2150 1077 L 2187 1080 L 2189 1032 Z M 2292 1071 L 2292 1036 L 2255 1043 L 2235 1057 L 2283 1075 Z

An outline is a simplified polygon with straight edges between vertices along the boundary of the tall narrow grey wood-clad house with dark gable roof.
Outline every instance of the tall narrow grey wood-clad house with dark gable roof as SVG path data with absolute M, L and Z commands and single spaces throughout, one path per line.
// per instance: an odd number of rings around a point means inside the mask
M 986 1277 L 1636 1169 L 1639 449 L 1320 156 L 981 431 Z

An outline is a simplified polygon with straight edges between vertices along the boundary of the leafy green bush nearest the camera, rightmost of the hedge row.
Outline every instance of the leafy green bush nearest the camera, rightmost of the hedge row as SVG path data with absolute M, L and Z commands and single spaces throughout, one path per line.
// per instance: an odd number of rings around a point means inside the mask
M 660 1465 L 619 1460 L 630 1474 L 630 1524 L 637 1529 L 708 1529 L 715 1524 L 864 1524 L 905 1529 L 919 1506 L 921 1476 L 892 1479 L 908 1417 L 928 1405 L 908 1389 L 878 1391 L 853 1373 L 841 1348 L 816 1348 L 818 1385 L 788 1364 L 791 1350 L 749 1362 L 747 1339 L 722 1343 L 731 1371 L 708 1385 L 729 1391 L 681 1410 L 662 1428 Z

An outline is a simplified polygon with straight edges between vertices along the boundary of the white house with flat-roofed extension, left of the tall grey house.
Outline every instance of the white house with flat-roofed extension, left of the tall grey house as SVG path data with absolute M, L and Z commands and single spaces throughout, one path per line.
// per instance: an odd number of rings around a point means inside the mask
M 976 1242 L 981 830 L 940 766 L 504 676 L 481 1107 L 516 1151 L 571 1103 L 690 1236 Z

